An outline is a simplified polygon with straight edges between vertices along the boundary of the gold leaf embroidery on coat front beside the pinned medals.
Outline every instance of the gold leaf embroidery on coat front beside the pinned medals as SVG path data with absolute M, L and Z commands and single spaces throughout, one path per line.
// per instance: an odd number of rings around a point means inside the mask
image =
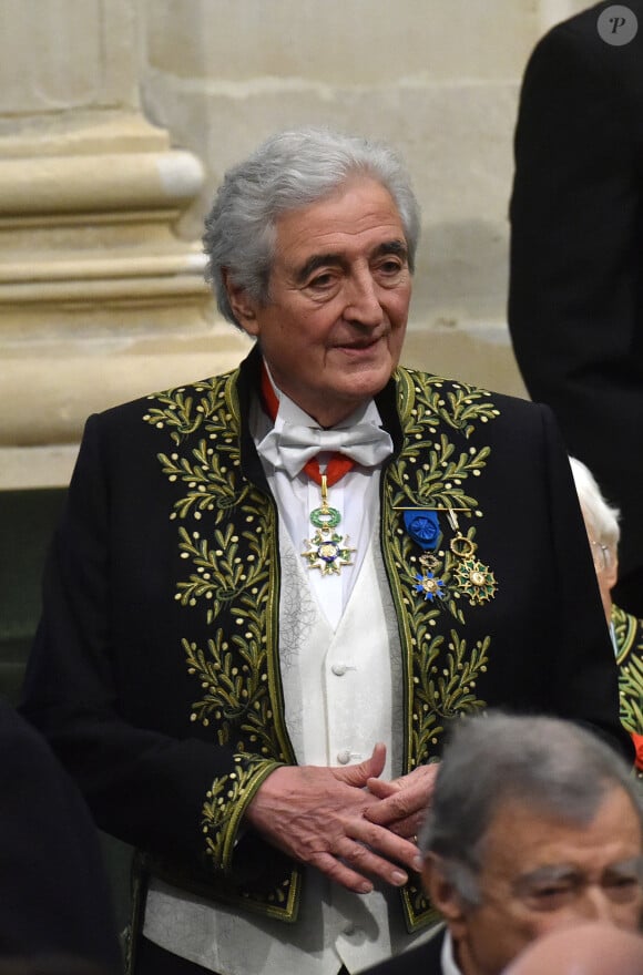
M 459 632 L 466 614 L 477 609 L 453 585 L 461 560 L 448 540 L 432 553 L 436 576 L 445 583 L 443 597 L 418 597 L 422 553 L 404 526 L 404 509 L 457 509 L 463 517 L 482 516 L 473 482 L 481 476 L 490 449 L 468 445 L 467 440 L 499 411 L 490 393 L 463 383 L 406 369 L 398 369 L 396 379 L 405 447 L 385 475 L 381 537 L 402 646 L 408 648 L 405 771 L 410 771 L 439 755 L 449 720 L 486 707 L 476 687 L 489 664 L 491 639 L 471 640 Z M 473 525 L 462 535 L 476 544 Z M 419 882 L 407 884 L 402 903 L 409 930 L 437 920 Z

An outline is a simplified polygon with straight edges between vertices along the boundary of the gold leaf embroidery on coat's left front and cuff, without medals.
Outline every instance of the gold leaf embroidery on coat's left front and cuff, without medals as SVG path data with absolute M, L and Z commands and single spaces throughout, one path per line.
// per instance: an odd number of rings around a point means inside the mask
M 172 439 L 174 450 L 159 461 L 183 488 L 170 513 L 180 523 L 187 568 L 175 599 L 208 626 L 223 623 L 205 648 L 182 639 L 188 674 L 203 691 L 190 719 L 212 727 L 218 743 L 236 752 L 233 770 L 214 781 L 203 805 L 206 852 L 217 869 L 228 865 L 241 815 L 265 776 L 294 761 L 275 655 L 276 515 L 241 471 L 236 378 L 237 371 L 152 396 L 143 418 Z M 203 624 L 196 629 L 203 633 Z M 290 920 L 298 891 L 298 875 L 287 869 L 257 900 Z

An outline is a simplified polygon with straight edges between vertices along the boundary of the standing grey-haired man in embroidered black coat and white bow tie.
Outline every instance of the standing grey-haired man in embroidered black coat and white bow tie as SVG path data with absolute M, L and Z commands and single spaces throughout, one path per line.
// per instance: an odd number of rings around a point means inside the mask
M 551 411 L 399 366 L 418 234 L 389 147 L 277 134 L 206 222 L 248 357 L 88 421 L 22 707 L 143 854 L 136 975 L 426 936 L 415 837 L 462 714 L 631 749 Z

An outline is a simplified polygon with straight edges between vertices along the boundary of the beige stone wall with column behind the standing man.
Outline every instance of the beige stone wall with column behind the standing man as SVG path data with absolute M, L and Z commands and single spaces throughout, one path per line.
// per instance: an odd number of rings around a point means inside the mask
M 423 213 L 406 361 L 524 394 L 504 318 L 518 91 L 584 6 L 3 0 L 0 486 L 64 483 L 89 412 L 238 360 L 203 215 L 288 125 L 401 150 Z

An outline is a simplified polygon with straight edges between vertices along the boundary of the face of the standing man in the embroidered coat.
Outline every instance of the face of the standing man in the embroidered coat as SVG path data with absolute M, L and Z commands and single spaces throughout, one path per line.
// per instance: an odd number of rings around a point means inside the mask
M 323 427 L 378 393 L 398 363 L 411 295 L 390 194 L 355 178 L 282 216 L 265 305 L 228 287 L 275 382 Z

